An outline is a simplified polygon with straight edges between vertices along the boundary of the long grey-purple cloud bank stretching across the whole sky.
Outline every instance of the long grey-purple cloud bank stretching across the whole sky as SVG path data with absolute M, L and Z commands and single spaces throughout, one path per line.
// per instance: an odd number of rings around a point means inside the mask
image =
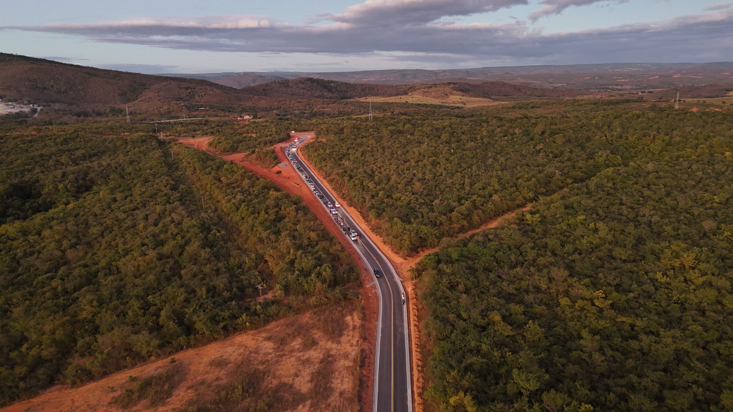
M 572 2 L 574 1 L 574 2 Z M 622 0 L 618 0 L 622 1 Z M 733 10 L 687 15 L 578 32 L 545 33 L 524 21 L 455 23 L 446 16 L 506 7 L 512 1 L 369 0 L 332 15 L 331 23 L 292 25 L 259 16 L 188 18 L 177 21 L 119 21 L 92 24 L 13 26 L 35 32 L 73 34 L 106 43 L 150 45 L 198 51 L 258 54 L 328 54 L 413 62 L 501 62 L 560 64 L 580 62 L 710 62 L 733 60 Z M 578 0 L 545 0 L 568 7 Z M 584 1 L 588 4 L 589 1 Z M 430 11 L 415 11 L 430 4 Z M 446 4 L 455 7 L 445 8 Z M 552 4 L 546 4 L 552 5 Z M 388 12 L 396 7 L 405 13 Z M 385 23 L 387 15 L 399 15 Z M 369 16 L 383 16 L 373 20 Z M 1 28 L 0 28 L 1 29 Z M 429 56 L 432 55 L 432 56 Z M 407 58 L 404 58 L 407 61 Z

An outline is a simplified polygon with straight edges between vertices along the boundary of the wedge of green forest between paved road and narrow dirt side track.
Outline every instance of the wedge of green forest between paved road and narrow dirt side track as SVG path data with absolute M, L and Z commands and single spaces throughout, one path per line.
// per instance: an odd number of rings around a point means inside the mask
M 726 114 L 629 106 L 568 102 L 550 114 L 324 122 L 317 136 L 325 141 L 303 151 L 391 246 L 413 254 L 627 164 L 644 139 L 726 124 Z

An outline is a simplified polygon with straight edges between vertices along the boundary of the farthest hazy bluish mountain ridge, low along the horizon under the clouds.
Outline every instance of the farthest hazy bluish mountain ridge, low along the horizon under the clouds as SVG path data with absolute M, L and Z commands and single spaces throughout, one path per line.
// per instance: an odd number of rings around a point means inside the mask
M 588 91 L 666 89 L 699 84 L 733 84 L 733 62 L 609 63 L 603 65 L 539 65 L 447 70 L 363 70 L 356 72 L 248 72 L 172 74 L 202 78 L 232 87 L 246 87 L 283 78 L 323 78 L 349 83 L 421 84 L 505 81 L 536 87 Z

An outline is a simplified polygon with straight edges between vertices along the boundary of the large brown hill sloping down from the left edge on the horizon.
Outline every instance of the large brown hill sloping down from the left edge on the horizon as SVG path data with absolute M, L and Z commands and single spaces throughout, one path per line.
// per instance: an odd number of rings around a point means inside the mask
M 136 100 L 195 100 L 203 104 L 253 101 L 251 96 L 205 80 L 103 70 L 14 54 L 0 54 L 0 95 L 7 100 L 76 106 Z

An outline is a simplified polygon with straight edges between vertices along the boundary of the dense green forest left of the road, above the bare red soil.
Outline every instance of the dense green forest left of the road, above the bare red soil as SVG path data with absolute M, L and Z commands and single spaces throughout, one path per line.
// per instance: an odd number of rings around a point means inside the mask
M 356 279 L 306 207 L 238 166 L 93 124 L 0 126 L 2 403 L 338 301 Z M 261 283 L 274 300 L 256 301 Z

